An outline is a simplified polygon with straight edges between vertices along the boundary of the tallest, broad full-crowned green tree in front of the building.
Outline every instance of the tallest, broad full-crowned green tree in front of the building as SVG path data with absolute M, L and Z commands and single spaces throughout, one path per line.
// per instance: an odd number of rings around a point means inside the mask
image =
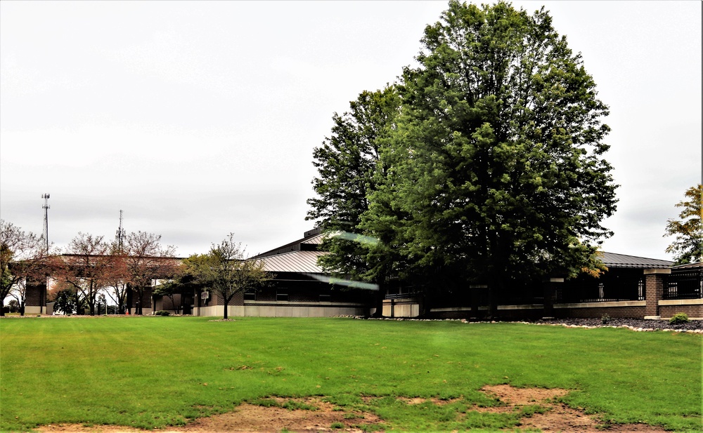
M 435 286 L 488 284 L 496 314 L 511 280 L 574 274 L 611 234 L 608 109 L 544 10 L 451 1 L 422 44 L 363 225 Z

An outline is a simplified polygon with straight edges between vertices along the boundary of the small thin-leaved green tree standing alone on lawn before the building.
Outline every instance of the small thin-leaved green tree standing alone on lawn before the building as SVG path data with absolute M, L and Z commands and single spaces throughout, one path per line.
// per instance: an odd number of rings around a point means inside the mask
M 195 281 L 211 288 L 224 301 L 224 319 L 227 307 L 237 293 L 259 288 L 269 281 L 272 275 L 264 270 L 263 260 L 246 260 L 245 248 L 234 241 L 230 233 L 218 245 L 212 245 L 206 255 L 191 256 L 186 272 Z

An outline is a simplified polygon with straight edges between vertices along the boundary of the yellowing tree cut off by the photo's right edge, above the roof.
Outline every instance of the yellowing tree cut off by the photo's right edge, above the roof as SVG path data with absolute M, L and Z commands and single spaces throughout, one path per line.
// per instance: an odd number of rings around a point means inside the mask
M 666 252 L 675 255 L 678 265 L 703 261 L 703 184 L 690 187 L 684 195 L 687 200 L 676 204 L 677 208 L 683 208 L 678 214 L 681 219 L 667 220 L 664 234 L 664 237 L 676 237 L 671 245 L 666 247 Z

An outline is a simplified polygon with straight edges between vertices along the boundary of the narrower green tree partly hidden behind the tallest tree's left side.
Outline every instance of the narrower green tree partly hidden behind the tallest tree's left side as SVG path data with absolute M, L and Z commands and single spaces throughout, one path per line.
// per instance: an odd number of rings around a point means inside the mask
M 306 219 L 316 220 L 327 235 L 322 248 L 330 254 L 321 256 L 321 267 L 340 277 L 337 281 L 345 285 L 354 286 L 346 279 L 373 280 L 383 287 L 387 279 L 380 275 L 378 261 L 369 256 L 368 246 L 376 240 L 364 237 L 360 224 L 377 188 L 376 171 L 386 169 L 380 164 L 380 148 L 382 139 L 394 127 L 399 105 L 394 86 L 363 91 L 350 102 L 349 111 L 334 114 L 330 137 L 314 149 L 316 197 L 307 201 L 310 208 Z M 385 268 L 383 274 L 388 274 Z M 379 313 L 382 294 L 383 290 L 379 290 L 376 297 Z

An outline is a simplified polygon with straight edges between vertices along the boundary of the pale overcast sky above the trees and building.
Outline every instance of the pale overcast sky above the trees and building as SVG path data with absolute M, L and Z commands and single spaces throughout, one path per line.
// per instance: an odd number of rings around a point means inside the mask
M 546 6 L 610 106 L 618 211 L 605 251 L 670 258 L 701 181 L 700 1 Z M 396 80 L 444 1 L 1 1 L 0 217 L 64 247 L 162 234 L 187 256 L 235 232 L 294 241 L 334 112 Z

